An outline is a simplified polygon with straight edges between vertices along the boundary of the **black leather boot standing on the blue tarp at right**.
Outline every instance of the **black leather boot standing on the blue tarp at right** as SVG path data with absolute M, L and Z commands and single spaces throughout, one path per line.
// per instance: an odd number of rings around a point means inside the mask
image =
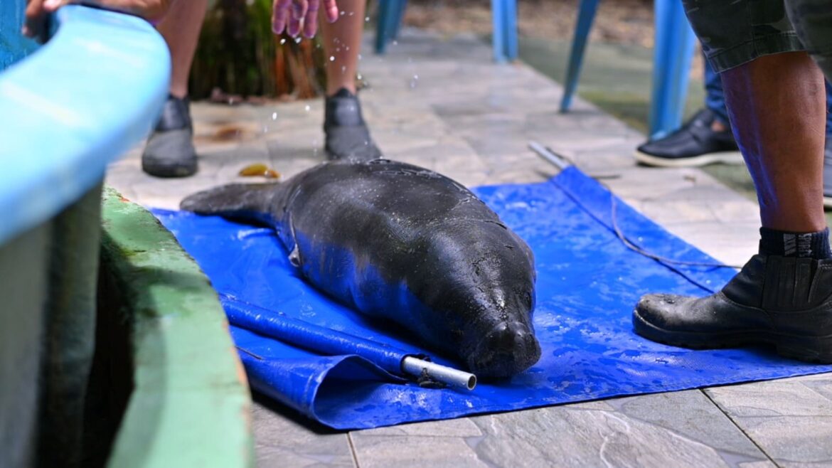
M 832 363 L 832 260 L 755 255 L 711 296 L 641 297 L 632 323 L 672 346 L 768 343 L 781 356 Z

